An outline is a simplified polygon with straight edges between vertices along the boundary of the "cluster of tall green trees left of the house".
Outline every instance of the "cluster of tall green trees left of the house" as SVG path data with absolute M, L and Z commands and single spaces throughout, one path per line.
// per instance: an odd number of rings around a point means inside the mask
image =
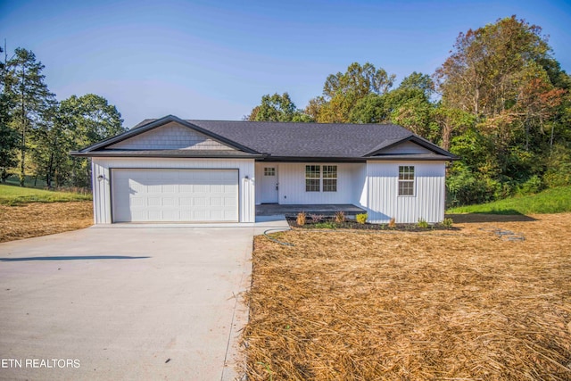
M 0 48 L 0 51 L 3 49 Z M 17 48 L 0 62 L 0 181 L 17 174 L 48 187 L 91 186 L 91 166 L 70 151 L 123 132 L 120 112 L 99 95 L 71 95 L 61 102 L 49 91 L 45 66 Z

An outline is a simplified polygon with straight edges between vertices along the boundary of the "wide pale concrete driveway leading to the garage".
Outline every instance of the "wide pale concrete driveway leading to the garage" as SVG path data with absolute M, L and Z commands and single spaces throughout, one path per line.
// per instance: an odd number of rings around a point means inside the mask
M 0 244 L 0 378 L 236 377 L 253 228 L 87 228 Z

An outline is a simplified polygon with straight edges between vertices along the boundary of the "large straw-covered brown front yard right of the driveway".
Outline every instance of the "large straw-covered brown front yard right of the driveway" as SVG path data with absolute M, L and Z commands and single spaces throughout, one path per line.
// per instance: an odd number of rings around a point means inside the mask
M 249 379 L 571 379 L 571 213 L 533 217 L 256 237 Z

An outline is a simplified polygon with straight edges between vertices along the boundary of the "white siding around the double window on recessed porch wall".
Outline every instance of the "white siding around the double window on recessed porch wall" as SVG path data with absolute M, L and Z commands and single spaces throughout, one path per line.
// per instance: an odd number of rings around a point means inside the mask
M 337 166 L 337 192 L 306 192 L 305 166 L 306 165 L 336 165 Z M 256 163 L 256 176 L 261 178 L 263 167 L 268 163 Z M 352 203 L 360 205 L 360 197 L 365 184 L 366 165 L 364 163 L 291 163 L 280 162 L 277 176 L 279 183 L 278 203 Z M 260 190 L 260 188 L 258 188 Z M 256 197 L 260 203 L 261 196 Z

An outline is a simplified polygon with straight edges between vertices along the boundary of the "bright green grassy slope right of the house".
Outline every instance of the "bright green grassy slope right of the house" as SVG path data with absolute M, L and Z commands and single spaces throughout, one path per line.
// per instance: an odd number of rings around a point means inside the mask
M 493 203 L 460 206 L 447 213 L 543 214 L 571 211 L 571 186 L 547 189 L 537 195 L 511 197 Z

